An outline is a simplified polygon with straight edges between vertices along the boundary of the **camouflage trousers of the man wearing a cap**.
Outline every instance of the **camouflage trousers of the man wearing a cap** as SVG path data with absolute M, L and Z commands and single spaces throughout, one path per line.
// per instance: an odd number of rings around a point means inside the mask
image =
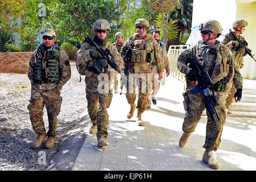
M 38 90 L 32 87 L 30 104 L 27 106 L 27 109 L 29 110 L 32 128 L 35 133 L 46 133 L 43 121 L 43 109 L 45 105 L 49 123 L 47 136 L 56 136 L 57 115 L 60 113 L 61 103 L 62 98 L 60 97 L 60 90 L 56 88 L 51 90 Z

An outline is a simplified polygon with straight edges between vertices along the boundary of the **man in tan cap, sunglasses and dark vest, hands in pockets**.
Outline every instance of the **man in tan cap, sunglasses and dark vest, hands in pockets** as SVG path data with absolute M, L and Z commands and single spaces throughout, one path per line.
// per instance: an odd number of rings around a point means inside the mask
M 71 77 L 68 55 L 55 43 L 55 32 L 49 28 L 43 32 L 43 43 L 32 53 L 28 78 L 31 81 L 31 99 L 28 105 L 33 130 L 38 134 L 35 147 L 46 139 L 43 109 L 46 105 L 49 131 L 46 148 L 55 142 L 57 115 L 60 113 L 62 98 L 60 90 Z

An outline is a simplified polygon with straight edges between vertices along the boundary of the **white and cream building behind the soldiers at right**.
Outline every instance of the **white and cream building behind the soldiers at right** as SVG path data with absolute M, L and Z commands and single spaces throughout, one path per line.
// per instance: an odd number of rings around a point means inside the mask
M 216 19 L 223 28 L 222 35 L 232 28 L 235 19 L 242 18 L 248 23 L 242 35 L 249 44 L 248 47 L 256 54 L 256 1 L 251 0 L 194 0 L 192 27 L 199 26 L 208 19 Z M 256 56 L 254 56 L 256 59 Z M 241 69 L 243 78 L 256 80 L 256 62 L 250 57 L 243 59 L 244 67 Z

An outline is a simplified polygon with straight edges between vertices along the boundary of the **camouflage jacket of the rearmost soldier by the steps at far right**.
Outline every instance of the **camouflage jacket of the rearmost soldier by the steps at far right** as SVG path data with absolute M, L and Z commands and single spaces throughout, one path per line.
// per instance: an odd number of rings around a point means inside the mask
M 245 38 L 243 38 L 243 36 L 241 35 L 238 35 L 237 39 L 241 40 L 242 42 L 245 41 Z M 236 44 L 234 44 L 233 41 L 236 42 Z M 226 47 L 228 47 L 232 51 L 238 67 L 240 69 L 243 68 L 243 56 L 245 56 L 245 48 L 240 48 L 240 51 L 238 51 L 239 49 L 238 41 L 234 40 L 234 38 L 232 37 L 232 35 L 230 35 L 230 33 L 225 35 L 225 39 L 222 42 L 222 44 L 224 44 Z

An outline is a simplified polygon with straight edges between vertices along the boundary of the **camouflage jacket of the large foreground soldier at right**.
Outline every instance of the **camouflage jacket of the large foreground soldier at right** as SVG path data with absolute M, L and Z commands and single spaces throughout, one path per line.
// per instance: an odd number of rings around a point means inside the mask
M 199 44 L 196 44 L 195 46 L 181 53 L 177 60 L 177 68 L 181 73 L 187 75 L 188 72 L 191 70 L 191 68 L 188 67 L 187 63 L 192 56 L 194 56 L 196 60 L 199 60 L 200 63 L 201 61 L 203 61 L 199 55 L 200 48 L 201 47 L 199 46 Z M 207 69 L 208 73 L 212 68 L 213 57 L 214 55 L 209 52 L 209 59 L 204 66 L 204 68 Z M 230 73 L 230 70 L 232 73 Z M 214 66 L 211 79 L 213 84 L 223 79 L 227 84 L 230 84 L 233 81 L 234 86 L 237 89 L 242 88 L 242 76 L 240 74 L 238 66 L 234 63 L 234 57 L 232 55 L 232 52 L 228 47 L 225 47 L 222 44 L 220 44 L 220 48 L 218 48 L 217 51 L 216 64 Z M 187 89 L 191 89 L 191 83 L 190 81 L 188 81 L 187 77 L 186 81 Z

